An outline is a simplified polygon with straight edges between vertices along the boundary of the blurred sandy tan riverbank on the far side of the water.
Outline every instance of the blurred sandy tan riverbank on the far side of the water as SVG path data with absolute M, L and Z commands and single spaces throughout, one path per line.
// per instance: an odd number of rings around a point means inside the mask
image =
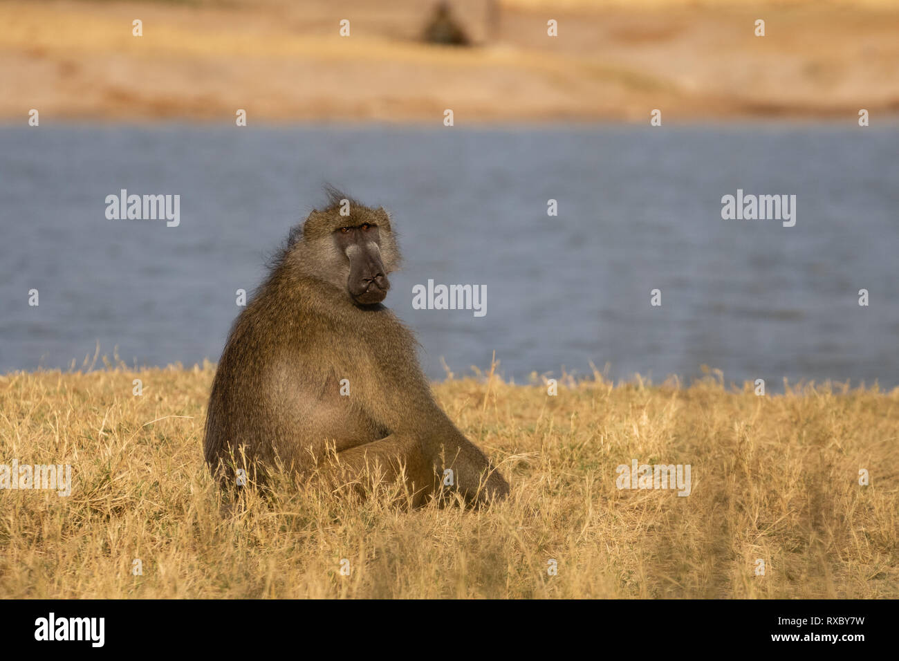
M 0 4 L 0 119 L 856 120 L 899 112 L 899 6 L 458 2 L 479 44 L 416 40 L 430 3 Z M 131 22 L 143 22 L 132 36 Z M 351 36 L 338 34 L 351 21 Z M 547 19 L 558 21 L 547 37 Z M 753 34 L 757 18 L 766 36 Z

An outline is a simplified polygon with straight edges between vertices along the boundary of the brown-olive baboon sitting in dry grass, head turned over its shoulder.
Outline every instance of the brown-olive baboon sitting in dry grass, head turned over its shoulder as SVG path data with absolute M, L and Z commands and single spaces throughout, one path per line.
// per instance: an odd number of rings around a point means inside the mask
M 245 465 L 264 484 L 277 457 L 301 478 L 318 467 L 352 483 L 377 466 L 405 478 L 415 506 L 447 490 L 469 505 L 505 496 L 432 397 L 412 333 L 381 305 L 400 264 L 387 211 L 327 192 L 228 335 L 206 419 L 210 469 L 227 483 Z

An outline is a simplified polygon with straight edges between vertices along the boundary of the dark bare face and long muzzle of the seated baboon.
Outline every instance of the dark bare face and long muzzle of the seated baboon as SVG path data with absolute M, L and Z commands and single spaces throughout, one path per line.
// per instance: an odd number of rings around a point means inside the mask
M 378 226 L 372 222 L 344 225 L 334 230 L 334 244 L 350 264 L 346 290 L 352 299 L 362 305 L 384 300 L 390 282 L 381 259 Z

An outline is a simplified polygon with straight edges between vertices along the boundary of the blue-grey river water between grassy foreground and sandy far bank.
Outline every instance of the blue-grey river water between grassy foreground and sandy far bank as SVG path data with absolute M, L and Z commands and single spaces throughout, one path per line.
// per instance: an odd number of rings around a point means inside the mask
M 895 126 L 68 124 L 0 128 L 0 145 L 0 371 L 80 366 L 98 343 L 216 361 L 236 290 L 327 182 L 392 212 L 405 268 L 385 302 L 432 378 L 495 351 L 517 381 L 593 362 L 615 380 L 706 364 L 769 388 L 899 384 Z M 121 189 L 180 195 L 178 226 L 107 219 Z M 796 195 L 796 225 L 722 219 L 738 190 Z M 485 287 L 485 314 L 414 308 L 429 280 Z

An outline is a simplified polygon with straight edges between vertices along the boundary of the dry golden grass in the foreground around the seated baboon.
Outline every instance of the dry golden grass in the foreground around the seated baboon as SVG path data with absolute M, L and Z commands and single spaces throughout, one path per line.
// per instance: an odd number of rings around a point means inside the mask
M 756 397 L 715 376 L 596 375 L 548 397 L 536 377 L 449 380 L 441 405 L 512 496 L 408 512 L 389 493 L 353 502 L 286 479 L 224 506 L 201 454 L 213 374 L 0 377 L 0 463 L 74 470 L 71 496 L 0 491 L 0 596 L 899 596 L 899 389 Z M 615 467 L 632 459 L 689 463 L 692 493 L 619 490 Z

